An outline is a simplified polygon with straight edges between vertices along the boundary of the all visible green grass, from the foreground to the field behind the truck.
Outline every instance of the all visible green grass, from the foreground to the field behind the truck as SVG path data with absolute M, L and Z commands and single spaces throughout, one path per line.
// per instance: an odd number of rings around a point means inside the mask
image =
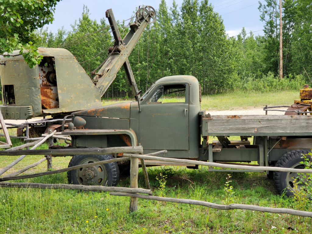
M 245 97 L 239 100 L 237 96 Z M 292 96 L 293 95 L 293 96 Z M 262 106 L 289 103 L 298 95 L 296 92 L 281 94 L 226 94 L 204 97 L 202 105 L 215 103 L 227 108 Z M 288 97 L 288 98 L 282 98 Z M 253 100 L 254 99 L 254 100 Z M 232 100 L 232 101 L 231 101 Z M 279 101 L 278 101 L 279 100 Z M 288 102 L 289 101 L 289 102 Z M 105 101 L 105 105 L 120 102 Z M 221 105 L 221 104 L 222 105 Z M 291 102 L 290 102 L 291 103 Z M 216 108 L 216 107 L 214 107 Z M 219 107 L 218 107 L 219 108 Z M 236 139 L 233 137 L 231 139 Z M 237 138 L 238 139 L 238 138 Z M 0 139 L 4 141 L 3 138 Z M 209 139 L 210 141 L 212 139 Z M 250 139 L 252 141 L 252 139 Z M 13 146 L 22 144 L 12 139 Z M 43 144 L 41 149 L 46 149 Z M 17 171 L 37 162 L 43 155 L 29 155 L 9 172 Z M 14 161 L 18 156 L 1 156 L 0 168 Z M 53 169 L 68 166 L 70 157 L 53 158 Z M 46 171 L 46 162 L 25 173 Z M 7 174 L 6 173 L 6 174 Z M 209 172 L 207 167 L 198 170 L 185 167 L 148 168 L 153 195 L 161 194 L 160 173 L 167 175 L 163 196 L 196 199 L 223 204 L 224 183 L 227 173 Z M 277 194 L 273 181 L 263 173 L 232 173 L 235 201 L 266 207 L 295 208 L 295 202 Z M 67 183 L 67 174 L 60 173 L 14 182 Z M 139 169 L 139 187 L 145 188 L 144 175 Z M 120 178 L 118 186 L 129 187 L 129 177 Z M 106 210 L 108 209 L 108 210 Z M 305 210 L 311 211 L 311 203 Z M 97 217 L 95 217 L 97 216 Z M 88 222 L 86 222 L 88 221 Z M 138 210 L 129 213 L 129 197 L 115 197 L 108 193 L 80 192 L 62 189 L 0 188 L 0 233 L 311 233 L 311 218 L 252 212 L 246 210 L 222 211 L 207 207 L 157 202 L 139 199 Z M 182 225 L 183 224 L 183 225 Z M 276 228 L 273 228 L 276 227 Z M 7 230 L 9 228 L 9 230 Z M 297 232 L 298 231 L 298 232 Z

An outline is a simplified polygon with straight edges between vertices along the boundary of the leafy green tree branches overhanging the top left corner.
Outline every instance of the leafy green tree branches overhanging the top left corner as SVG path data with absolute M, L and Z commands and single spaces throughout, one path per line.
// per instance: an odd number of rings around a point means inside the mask
M 52 22 L 56 3 L 60 0 L 0 0 L 0 54 L 20 50 L 30 68 L 39 64 L 34 33 Z

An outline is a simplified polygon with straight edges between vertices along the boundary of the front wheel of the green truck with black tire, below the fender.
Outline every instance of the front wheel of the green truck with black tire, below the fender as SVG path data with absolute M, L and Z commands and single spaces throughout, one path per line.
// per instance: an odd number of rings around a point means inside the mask
M 68 164 L 73 167 L 113 159 L 111 154 L 74 155 Z M 78 168 L 67 172 L 68 183 L 83 185 L 116 186 L 119 180 L 117 162 L 99 164 L 93 167 Z

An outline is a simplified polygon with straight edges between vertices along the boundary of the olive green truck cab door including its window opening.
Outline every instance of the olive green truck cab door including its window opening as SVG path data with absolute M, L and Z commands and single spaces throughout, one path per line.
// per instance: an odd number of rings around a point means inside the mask
M 144 149 L 188 150 L 187 83 L 157 85 L 141 101 L 139 143 Z

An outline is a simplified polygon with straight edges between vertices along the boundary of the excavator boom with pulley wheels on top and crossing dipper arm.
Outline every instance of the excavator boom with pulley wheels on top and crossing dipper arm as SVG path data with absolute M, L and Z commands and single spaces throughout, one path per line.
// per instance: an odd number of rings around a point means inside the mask
M 130 30 L 124 39 L 121 35 L 116 23 L 112 9 L 106 11 L 106 17 L 110 23 L 112 33 L 115 39 L 113 47 L 109 49 L 109 57 L 105 61 L 100 70 L 95 73 L 96 87 L 100 91 L 101 97 L 104 95 L 110 84 L 115 80 L 117 72 L 122 66 L 126 72 L 126 76 L 132 89 L 134 98 L 138 100 L 139 90 L 135 83 L 134 76 L 128 57 L 133 50 L 135 44 L 139 41 L 140 36 L 149 23 L 155 22 L 156 13 L 153 7 L 145 6 L 139 8 L 136 12 L 135 22 L 130 24 Z

